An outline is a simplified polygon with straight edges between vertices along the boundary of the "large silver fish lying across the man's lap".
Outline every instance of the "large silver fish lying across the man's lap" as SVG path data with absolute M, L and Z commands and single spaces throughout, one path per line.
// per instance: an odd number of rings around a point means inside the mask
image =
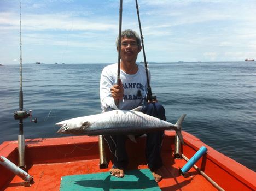
M 175 130 L 182 144 L 184 144 L 181 128 L 185 118 L 183 114 L 176 124 L 160 120 L 159 118 L 143 114 L 139 110 L 112 110 L 101 114 L 72 118 L 56 123 L 61 126 L 57 133 L 75 135 L 135 135 L 153 132 L 155 130 Z

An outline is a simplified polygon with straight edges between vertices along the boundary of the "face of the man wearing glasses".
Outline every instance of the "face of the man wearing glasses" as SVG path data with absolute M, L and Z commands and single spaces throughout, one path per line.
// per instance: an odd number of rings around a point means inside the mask
M 121 39 L 121 59 L 127 62 L 136 62 L 141 46 L 136 42 L 136 38 L 124 37 Z

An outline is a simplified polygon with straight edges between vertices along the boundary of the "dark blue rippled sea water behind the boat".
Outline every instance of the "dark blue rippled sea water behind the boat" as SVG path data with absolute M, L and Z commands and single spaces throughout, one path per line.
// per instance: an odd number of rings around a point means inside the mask
M 52 138 L 56 122 L 98 114 L 100 75 L 106 64 L 23 64 L 25 138 Z M 152 63 L 151 87 L 175 123 L 187 114 L 183 130 L 256 171 L 256 62 Z M 20 66 L 0 67 L 0 144 L 16 140 Z

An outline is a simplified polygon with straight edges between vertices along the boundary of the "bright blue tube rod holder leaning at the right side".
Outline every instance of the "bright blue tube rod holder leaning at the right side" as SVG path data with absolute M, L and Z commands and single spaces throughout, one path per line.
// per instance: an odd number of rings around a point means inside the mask
M 192 168 L 192 166 L 205 154 L 207 151 L 207 148 L 205 146 L 202 146 L 195 154 L 194 156 L 183 166 L 182 169 L 179 170 L 179 174 L 182 174 L 183 176 L 187 176 L 187 172 Z

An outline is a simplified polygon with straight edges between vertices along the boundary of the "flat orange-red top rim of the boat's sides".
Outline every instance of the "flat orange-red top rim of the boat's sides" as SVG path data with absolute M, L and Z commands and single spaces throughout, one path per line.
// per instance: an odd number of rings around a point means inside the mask
M 246 166 L 236 162 L 235 160 L 225 156 L 224 154 L 214 150 L 212 147 L 203 143 L 200 139 L 196 138 L 188 132 L 182 132 L 183 138 L 186 146 L 183 146 L 183 150 L 194 150 L 195 153 L 203 145 L 208 151 L 206 154 L 207 160 L 211 161 L 214 165 L 217 165 L 219 169 L 223 169 L 226 173 L 234 177 L 237 181 L 244 184 L 247 188 L 256 190 L 256 180 L 255 172 L 248 169 Z M 165 136 L 174 137 L 175 132 L 166 131 Z M 36 148 L 47 148 L 47 147 L 59 147 L 59 146 L 72 146 L 72 145 L 88 145 L 96 144 L 98 142 L 97 136 L 66 136 L 61 138 L 36 138 L 36 139 L 26 139 L 26 149 L 33 150 Z M 169 149 L 169 148 L 168 148 Z M 173 148 L 172 148 L 173 149 Z M 0 153 L 4 157 L 14 158 L 18 156 L 18 141 L 5 141 L 0 145 Z M 190 152 L 191 155 L 191 152 Z M 191 158 L 190 155 L 186 155 Z M 95 156 L 95 155 L 94 155 Z M 75 158 L 78 159 L 79 158 Z M 16 159 L 15 159 L 16 160 Z M 50 162 L 51 163 L 51 162 Z M 201 162 L 197 162 L 201 163 Z M 35 163 L 36 164 L 36 163 Z M 40 163 L 38 163 L 40 164 Z M 200 165 L 197 165 L 200 167 Z M 206 169 L 207 171 L 207 169 Z M 213 173 L 213 172 L 212 172 Z M 211 177 L 211 171 L 207 171 L 206 174 Z M 213 174 L 214 175 L 214 174 Z M 221 185 L 220 185 L 221 186 Z

